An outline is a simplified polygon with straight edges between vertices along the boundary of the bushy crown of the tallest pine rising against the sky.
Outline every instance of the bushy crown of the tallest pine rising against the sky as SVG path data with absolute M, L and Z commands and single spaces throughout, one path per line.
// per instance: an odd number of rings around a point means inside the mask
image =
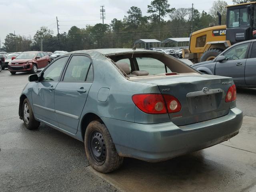
M 163 17 L 170 13 L 173 9 L 170 9 L 170 4 L 168 0 L 153 0 L 150 5 L 148 5 L 148 13 L 151 13 L 150 18 L 154 21 L 160 23 L 163 21 Z

